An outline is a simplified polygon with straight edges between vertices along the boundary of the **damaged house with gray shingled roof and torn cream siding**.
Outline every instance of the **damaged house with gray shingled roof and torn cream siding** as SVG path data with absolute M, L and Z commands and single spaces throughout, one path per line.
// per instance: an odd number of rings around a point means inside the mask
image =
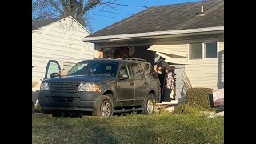
M 190 87 L 224 87 L 224 0 L 151 6 L 83 38 L 104 57 L 129 48 L 130 57 L 175 66 L 176 99 Z

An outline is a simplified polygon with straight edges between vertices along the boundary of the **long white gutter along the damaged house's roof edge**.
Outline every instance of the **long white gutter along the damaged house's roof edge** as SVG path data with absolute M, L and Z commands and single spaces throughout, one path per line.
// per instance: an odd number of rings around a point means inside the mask
M 98 37 L 86 37 L 82 38 L 82 41 L 97 41 L 97 40 L 119 40 L 122 38 L 140 38 L 140 37 L 149 37 L 149 36 L 161 36 L 161 35 L 171 35 L 171 34 L 190 34 L 190 33 L 201 33 L 201 32 L 212 32 L 212 31 L 220 31 L 224 30 L 224 26 L 217 27 L 206 27 L 206 28 L 198 28 L 198 29 L 186 29 L 186 30 L 168 30 L 168 31 L 154 31 L 147 33 L 136 33 L 136 34 L 118 34 L 118 35 L 106 35 L 106 36 L 98 36 Z

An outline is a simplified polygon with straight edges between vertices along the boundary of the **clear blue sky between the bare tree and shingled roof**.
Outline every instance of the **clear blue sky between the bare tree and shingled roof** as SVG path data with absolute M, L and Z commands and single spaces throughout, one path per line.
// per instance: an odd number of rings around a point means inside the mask
M 92 33 L 94 33 L 116 22 L 122 21 L 122 19 L 128 18 L 133 14 L 137 14 L 142 10 L 146 10 L 146 7 L 198 1 L 201 0 L 106 0 L 106 2 L 129 6 L 111 5 L 114 6 L 115 10 L 109 6 L 96 6 L 88 12 L 88 18 Z

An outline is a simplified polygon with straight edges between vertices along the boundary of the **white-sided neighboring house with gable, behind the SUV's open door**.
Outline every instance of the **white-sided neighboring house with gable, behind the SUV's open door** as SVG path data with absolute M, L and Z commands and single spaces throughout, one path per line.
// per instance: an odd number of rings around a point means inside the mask
M 90 35 L 73 17 L 32 21 L 32 81 L 38 90 L 49 60 L 57 60 L 65 71 L 76 62 L 97 57 L 94 45 L 82 42 Z

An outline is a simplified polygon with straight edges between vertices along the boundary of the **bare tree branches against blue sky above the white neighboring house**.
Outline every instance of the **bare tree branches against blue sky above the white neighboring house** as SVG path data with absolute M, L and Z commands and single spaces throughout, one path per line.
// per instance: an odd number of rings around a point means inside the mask
M 82 26 L 90 26 L 90 18 L 87 15 L 88 11 L 95 6 L 102 6 L 102 8 L 110 7 L 113 10 L 114 5 L 109 2 L 116 2 L 118 0 L 33 0 L 37 4 L 33 7 L 33 18 L 44 19 L 44 18 L 58 18 L 60 16 L 73 16 Z M 120 0 L 121 1 L 121 0 Z M 106 7 L 105 7 L 106 6 Z

